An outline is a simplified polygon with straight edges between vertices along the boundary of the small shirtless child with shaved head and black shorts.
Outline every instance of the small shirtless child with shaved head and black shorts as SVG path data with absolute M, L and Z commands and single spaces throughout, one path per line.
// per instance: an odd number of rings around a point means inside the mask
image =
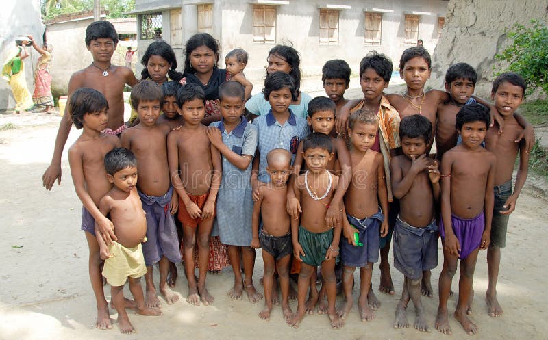
M 259 187 L 259 199 L 253 204 L 253 239 L 251 248 L 262 248 L 264 263 L 264 309 L 259 317 L 268 321 L 272 311 L 274 272 L 279 276 L 282 290 L 282 311 L 284 319 L 293 316 L 289 306 L 289 267 L 293 252 L 290 215 L 286 210 L 287 181 L 291 169 L 292 155 L 284 148 L 275 148 L 266 155 L 266 171 L 270 183 Z M 262 229 L 259 231 L 259 221 Z

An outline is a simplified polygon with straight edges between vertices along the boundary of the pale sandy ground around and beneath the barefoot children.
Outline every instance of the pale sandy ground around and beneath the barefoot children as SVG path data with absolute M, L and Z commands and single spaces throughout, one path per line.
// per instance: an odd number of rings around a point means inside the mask
M 317 84 L 317 82 L 315 82 Z M 308 92 L 319 94 L 321 87 Z M 359 93 L 354 88 L 353 94 Z M 354 95 L 355 96 L 355 95 Z M 49 164 L 59 117 L 33 114 L 0 115 L 0 126 L 13 122 L 17 128 L 0 131 L 0 340 L 3 339 L 121 339 L 112 330 L 96 330 L 95 300 L 88 280 L 88 250 L 84 232 L 79 230 L 79 202 L 70 177 L 66 152 L 62 161 L 62 185 L 51 192 L 42 188 L 42 172 Z M 73 129 L 69 145 L 79 131 Z M 532 176 L 519 199 L 508 226 L 508 246 L 503 250 L 499 278 L 499 301 L 505 309 L 500 318 L 489 317 L 484 302 L 487 286 L 486 252 L 477 261 L 474 280 L 476 299 L 473 321 L 479 325 L 477 339 L 547 339 L 548 326 L 544 290 L 547 285 L 543 265 L 548 256 L 545 218 L 547 183 Z M 443 259 L 440 250 L 440 261 Z M 390 262 L 392 257 L 390 255 Z M 437 290 L 441 265 L 433 271 Z M 182 274 L 179 265 L 179 273 Z M 155 270 L 158 281 L 158 271 Z M 356 304 L 343 330 L 332 330 L 325 315 L 307 315 L 298 330 L 288 328 L 279 306 L 270 322 L 258 318 L 262 302 L 251 304 L 230 300 L 226 292 L 232 286 L 232 270 L 208 276 L 210 292 L 216 300 L 212 306 L 190 306 L 180 300 L 167 305 L 161 317 L 129 317 L 137 332 L 127 339 L 462 339 L 468 337 L 454 319 L 452 336 L 434 332 L 421 333 L 413 328 L 392 327 L 395 306 L 401 293 L 403 276 L 392 270 L 396 295 L 377 293 L 382 306 L 372 322 L 362 323 Z M 260 252 L 254 280 L 262 276 Z M 359 276 L 356 275 L 357 284 Z M 373 287 L 379 285 L 375 267 Z M 257 287 L 261 289 L 260 286 Z M 453 283 L 453 290 L 456 290 Z M 179 278 L 175 291 L 186 296 L 186 280 Z M 110 289 L 105 289 L 110 299 Z M 358 291 L 354 290 L 355 298 Z M 126 288 L 126 296 L 129 290 Z M 161 299 L 161 298 L 160 298 Z M 338 297 L 338 303 L 342 297 Z M 434 326 L 438 306 L 434 298 L 423 298 L 429 325 Z M 291 304 L 295 311 L 297 303 Z M 449 309 L 456 298 L 449 300 Z M 111 310 L 111 317 L 116 318 Z M 408 311 L 413 321 L 413 308 Z M 126 337 L 124 337 L 126 338 Z

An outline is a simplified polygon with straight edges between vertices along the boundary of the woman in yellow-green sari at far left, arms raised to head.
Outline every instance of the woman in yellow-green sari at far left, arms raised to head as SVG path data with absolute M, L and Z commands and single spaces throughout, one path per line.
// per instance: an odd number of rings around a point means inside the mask
M 15 98 L 14 114 L 19 114 L 21 111 L 27 111 L 34 107 L 25 80 L 25 63 L 23 59 L 29 56 L 27 49 L 25 49 L 25 43 L 27 41 L 23 42 L 23 46 L 16 46 L 12 49 L 8 54 L 8 59 L 5 60 L 2 66 L 2 78 L 10 84 Z

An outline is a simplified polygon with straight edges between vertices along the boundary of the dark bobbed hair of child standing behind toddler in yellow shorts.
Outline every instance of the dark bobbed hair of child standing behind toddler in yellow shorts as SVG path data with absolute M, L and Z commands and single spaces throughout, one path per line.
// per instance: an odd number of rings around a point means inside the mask
M 108 109 L 108 101 L 103 94 L 93 88 L 79 88 L 71 94 L 69 112 L 76 129 L 84 127 L 84 115 Z

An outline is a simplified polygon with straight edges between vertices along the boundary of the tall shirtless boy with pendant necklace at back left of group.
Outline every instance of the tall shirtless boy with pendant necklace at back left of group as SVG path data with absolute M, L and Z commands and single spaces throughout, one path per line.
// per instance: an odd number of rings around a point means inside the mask
M 133 71 L 125 66 L 116 66 L 110 63 L 116 50 L 118 34 L 112 23 L 108 21 L 95 21 L 86 29 L 86 46 L 90 51 L 93 62 L 90 66 L 73 73 L 69 80 L 69 96 L 78 88 L 93 88 L 105 96 L 108 107 L 108 122 L 104 127 L 104 133 L 119 135 L 125 128 L 124 125 L 124 101 L 123 89 L 125 84 L 134 86 L 138 81 Z M 55 138 L 55 149 L 51 164 L 42 176 L 42 184 L 47 190 L 51 190 L 55 180 L 61 184 L 61 155 L 66 139 L 71 131 L 71 115 L 68 105 L 59 125 Z M 110 241 L 114 233 L 100 229 L 105 241 Z

